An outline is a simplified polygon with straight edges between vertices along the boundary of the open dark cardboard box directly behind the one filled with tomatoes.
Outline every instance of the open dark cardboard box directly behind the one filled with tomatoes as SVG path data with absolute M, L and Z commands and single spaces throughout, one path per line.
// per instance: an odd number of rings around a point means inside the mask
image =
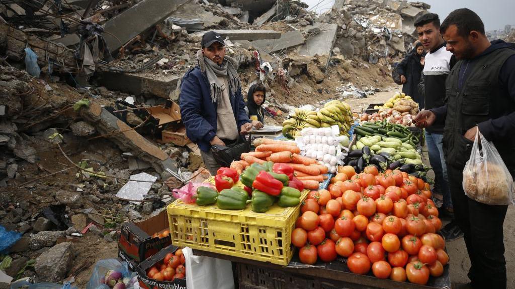
M 124 223 L 118 249 L 124 252 L 126 259 L 130 258 L 138 264 L 171 244 L 170 236 L 152 238 L 152 234 L 169 228 L 166 210 L 139 223 Z

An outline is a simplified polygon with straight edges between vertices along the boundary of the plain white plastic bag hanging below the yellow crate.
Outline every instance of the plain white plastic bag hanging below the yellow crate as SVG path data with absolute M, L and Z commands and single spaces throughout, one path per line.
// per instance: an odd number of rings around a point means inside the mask
M 188 289 L 234 289 L 231 261 L 195 256 L 190 247 L 182 249 L 182 254 Z

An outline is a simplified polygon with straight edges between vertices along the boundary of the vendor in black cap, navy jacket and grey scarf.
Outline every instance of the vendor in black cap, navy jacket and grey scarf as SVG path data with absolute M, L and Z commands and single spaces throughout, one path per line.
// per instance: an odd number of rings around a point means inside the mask
M 250 132 L 252 124 L 236 73 L 238 63 L 225 55 L 224 39 L 209 31 L 201 46 L 196 54 L 198 65 L 181 82 L 181 117 L 187 137 L 198 145 L 206 168 L 214 175 L 219 165 L 211 146 L 235 143 Z

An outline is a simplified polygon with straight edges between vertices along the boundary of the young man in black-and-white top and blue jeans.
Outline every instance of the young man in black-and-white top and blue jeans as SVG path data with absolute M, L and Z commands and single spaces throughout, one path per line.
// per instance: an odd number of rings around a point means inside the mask
M 450 51 L 445 49 L 445 42 L 440 34 L 440 19 L 437 14 L 427 13 L 415 21 L 419 41 L 429 50 L 425 56 L 423 75 L 419 84 L 419 93 L 424 100 L 421 108 L 426 110 L 442 106 L 445 103 L 445 79 L 456 63 Z M 425 130 L 425 139 L 429 161 L 435 172 L 435 188 L 442 196 L 443 204 L 438 209 L 440 218 L 453 219 L 452 198 L 449 191 L 447 166 L 443 159 L 442 150 L 443 125 L 433 125 Z M 454 240 L 462 236 L 462 232 L 455 222 L 445 225 L 442 234 L 447 240 Z

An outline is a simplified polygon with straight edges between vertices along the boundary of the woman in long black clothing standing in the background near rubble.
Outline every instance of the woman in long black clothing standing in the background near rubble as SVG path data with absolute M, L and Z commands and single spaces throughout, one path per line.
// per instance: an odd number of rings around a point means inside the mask
M 420 60 L 425 56 L 424 46 L 420 41 L 415 42 L 415 48 L 398 65 L 399 74 L 401 75 L 402 92 L 419 104 L 420 109 L 424 108 L 424 99 L 418 92 L 418 84 L 422 75 L 424 66 Z

